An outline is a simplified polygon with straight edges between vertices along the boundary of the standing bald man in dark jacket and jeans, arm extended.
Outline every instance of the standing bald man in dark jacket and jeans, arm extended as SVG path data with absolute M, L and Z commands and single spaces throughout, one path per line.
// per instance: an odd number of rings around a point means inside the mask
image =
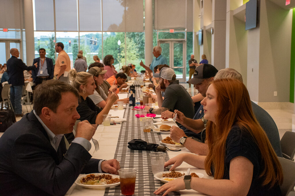
M 22 59 L 19 59 L 19 51 L 17 48 L 10 49 L 11 58 L 7 61 L 7 71 L 11 84 L 10 100 L 16 117 L 22 117 L 22 87 L 24 86 L 24 70 L 30 71 L 37 67 L 37 63 L 32 66 L 26 66 Z

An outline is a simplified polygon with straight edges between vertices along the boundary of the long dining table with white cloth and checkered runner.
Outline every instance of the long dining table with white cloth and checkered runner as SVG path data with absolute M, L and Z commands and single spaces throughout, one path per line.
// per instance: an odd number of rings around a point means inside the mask
M 119 93 L 119 98 L 126 98 L 128 93 Z M 154 106 L 157 107 L 157 106 Z M 130 150 L 128 142 L 132 139 L 142 139 L 148 143 L 157 143 L 160 145 L 160 141 L 169 136 L 167 134 L 159 134 L 151 130 L 150 133 L 144 133 L 142 128 L 142 122 L 139 118 L 135 117 L 138 114 L 138 110 L 132 110 L 133 106 L 127 104 L 126 108 L 123 110 L 113 110 L 109 111 L 112 116 L 118 116 L 119 118 L 125 118 L 126 121 L 121 124 L 104 126 L 99 125 L 93 136 L 94 139 L 99 142 L 99 150 L 95 151 L 94 144 L 91 141 L 92 147 L 89 153 L 93 158 L 98 159 L 117 159 L 122 168 L 134 168 L 137 169 L 136 184 L 135 184 L 135 194 L 138 196 L 145 195 L 155 195 L 153 192 L 158 189 L 163 182 L 154 178 L 152 173 L 152 167 L 150 162 L 149 154 L 154 151 L 142 151 L 142 150 Z M 157 115 L 160 117 L 160 115 Z M 155 122 L 155 121 L 154 121 Z M 175 123 L 169 123 L 169 125 L 176 125 Z M 159 126 L 159 125 L 155 125 Z M 181 148 L 181 151 L 166 151 L 165 161 L 170 158 L 175 157 L 180 153 L 190 153 L 186 148 Z M 168 167 L 170 168 L 170 167 Z M 213 177 L 208 176 L 205 170 L 192 167 L 191 165 L 183 162 L 180 166 L 176 168 L 177 171 L 185 172 L 188 168 L 191 168 L 191 172 L 202 173 L 204 178 L 212 179 Z M 164 171 L 168 171 L 165 168 Z M 80 175 L 81 176 L 81 175 Z M 106 189 L 86 189 L 75 183 L 68 190 L 66 195 L 122 195 L 120 191 L 120 186 L 114 188 Z M 196 192 L 195 190 L 181 190 L 176 192 L 171 192 L 169 195 L 204 195 L 202 193 Z

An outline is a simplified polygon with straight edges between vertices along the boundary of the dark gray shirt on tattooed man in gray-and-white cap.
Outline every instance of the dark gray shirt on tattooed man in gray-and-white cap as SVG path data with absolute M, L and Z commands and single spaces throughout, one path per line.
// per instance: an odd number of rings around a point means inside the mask
M 187 118 L 194 117 L 193 100 L 185 88 L 179 84 L 178 80 L 173 81 L 165 89 L 162 107 L 169 108 L 171 112 L 179 110 Z M 177 123 L 177 125 L 179 126 L 180 124 Z

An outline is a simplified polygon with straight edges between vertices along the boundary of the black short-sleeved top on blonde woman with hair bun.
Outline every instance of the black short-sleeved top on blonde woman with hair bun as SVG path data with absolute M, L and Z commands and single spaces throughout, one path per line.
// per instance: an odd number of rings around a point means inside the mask
M 86 100 L 84 100 L 81 96 L 77 111 L 80 115 L 78 120 L 88 120 L 90 124 L 95 124 L 96 116 L 101 112 L 101 109 L 93 103 L 91 98 L 87 97 Z

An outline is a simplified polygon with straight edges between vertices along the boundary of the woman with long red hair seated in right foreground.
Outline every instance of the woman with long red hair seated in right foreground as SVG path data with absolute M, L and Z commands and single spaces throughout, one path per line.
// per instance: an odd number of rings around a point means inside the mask
M 180 154 L 165 163 L 175 169 L 183 161 L 205 169 L 215 180 L 192 177 L 172 180 L 155 194 L 190 187 L 207 195 L 281 195 L 281 165 L 266 133 L 253 115 L 245 85 L 235 79 L 214 80 L 207 90 L 204 118 L 208 120 L 207 156 Z

